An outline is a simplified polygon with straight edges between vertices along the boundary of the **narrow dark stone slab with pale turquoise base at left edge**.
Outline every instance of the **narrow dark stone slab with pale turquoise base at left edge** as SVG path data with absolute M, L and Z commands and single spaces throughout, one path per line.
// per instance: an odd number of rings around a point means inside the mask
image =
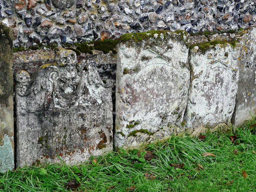
M 14 169 L 12 28 L 0 22 L 0 172 Z

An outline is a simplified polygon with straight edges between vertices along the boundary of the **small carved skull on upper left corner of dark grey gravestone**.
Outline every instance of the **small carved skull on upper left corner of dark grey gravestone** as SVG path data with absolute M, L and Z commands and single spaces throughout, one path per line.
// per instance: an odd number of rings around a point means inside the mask
M 20 96 L 25 96 L 28 83 L 30 81 L 30 76 L 27 71 L 18 71 L 16 73 L 16 93 Z

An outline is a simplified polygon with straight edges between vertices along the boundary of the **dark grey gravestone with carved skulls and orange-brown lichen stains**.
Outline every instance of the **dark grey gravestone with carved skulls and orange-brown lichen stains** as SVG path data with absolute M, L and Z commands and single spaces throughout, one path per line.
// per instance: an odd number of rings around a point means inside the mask
M 61 50 L 56 63 L 34 78 L 16 74 L 17 164 L 84 161 L 113 148 L 111 81 L 102 82 L 76 53 Z

